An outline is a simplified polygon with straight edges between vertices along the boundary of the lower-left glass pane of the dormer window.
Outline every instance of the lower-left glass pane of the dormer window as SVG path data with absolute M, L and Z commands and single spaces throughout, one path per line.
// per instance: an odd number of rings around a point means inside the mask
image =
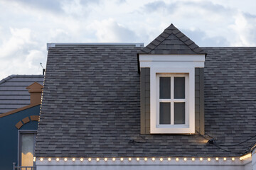
M 160 124 L 171 124 L 171 103 L 160 102 Z

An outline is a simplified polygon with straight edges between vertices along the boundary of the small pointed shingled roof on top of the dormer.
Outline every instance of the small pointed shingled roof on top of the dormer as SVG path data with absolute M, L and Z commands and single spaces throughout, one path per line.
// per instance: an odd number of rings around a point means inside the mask
M 140 54 L 150 55 L 195 55 L 206 54 L 201 47 L 181 33 L 173 24 L 166 28 L 156 39 L 146 45 Z

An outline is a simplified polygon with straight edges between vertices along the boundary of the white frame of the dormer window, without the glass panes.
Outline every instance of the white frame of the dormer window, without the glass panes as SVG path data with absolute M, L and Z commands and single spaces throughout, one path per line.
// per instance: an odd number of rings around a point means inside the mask
M 185 125 L 159 125 L 159 78 L 161 74 L 186 75 L 187 95 Z M 177 100 L 177 99 L 176 99 Z M 150 68 L 150 133 L 191 134 L 195 133 L 195 68 L 151 67 Z

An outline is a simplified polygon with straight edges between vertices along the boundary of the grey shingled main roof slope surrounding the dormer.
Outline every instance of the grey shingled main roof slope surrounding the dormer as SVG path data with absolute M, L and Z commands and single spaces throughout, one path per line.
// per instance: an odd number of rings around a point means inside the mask
M 208 53 L 206 134 L 235 145 L 255 135 L 256 47 L 202 49 Z M 140 135 L 138 50 L 114 45 L 49 49 L 36 157 L 228 157 L 245 152 L 252 140 L 223 147 L 232 151 L 225 152 L 207 145 L 201 135 Z

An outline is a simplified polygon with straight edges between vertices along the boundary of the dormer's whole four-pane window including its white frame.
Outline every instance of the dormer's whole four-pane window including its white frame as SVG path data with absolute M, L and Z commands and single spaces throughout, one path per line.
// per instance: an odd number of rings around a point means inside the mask
M 195 132 L 194 70 L 151 67 L 150 133 Z

